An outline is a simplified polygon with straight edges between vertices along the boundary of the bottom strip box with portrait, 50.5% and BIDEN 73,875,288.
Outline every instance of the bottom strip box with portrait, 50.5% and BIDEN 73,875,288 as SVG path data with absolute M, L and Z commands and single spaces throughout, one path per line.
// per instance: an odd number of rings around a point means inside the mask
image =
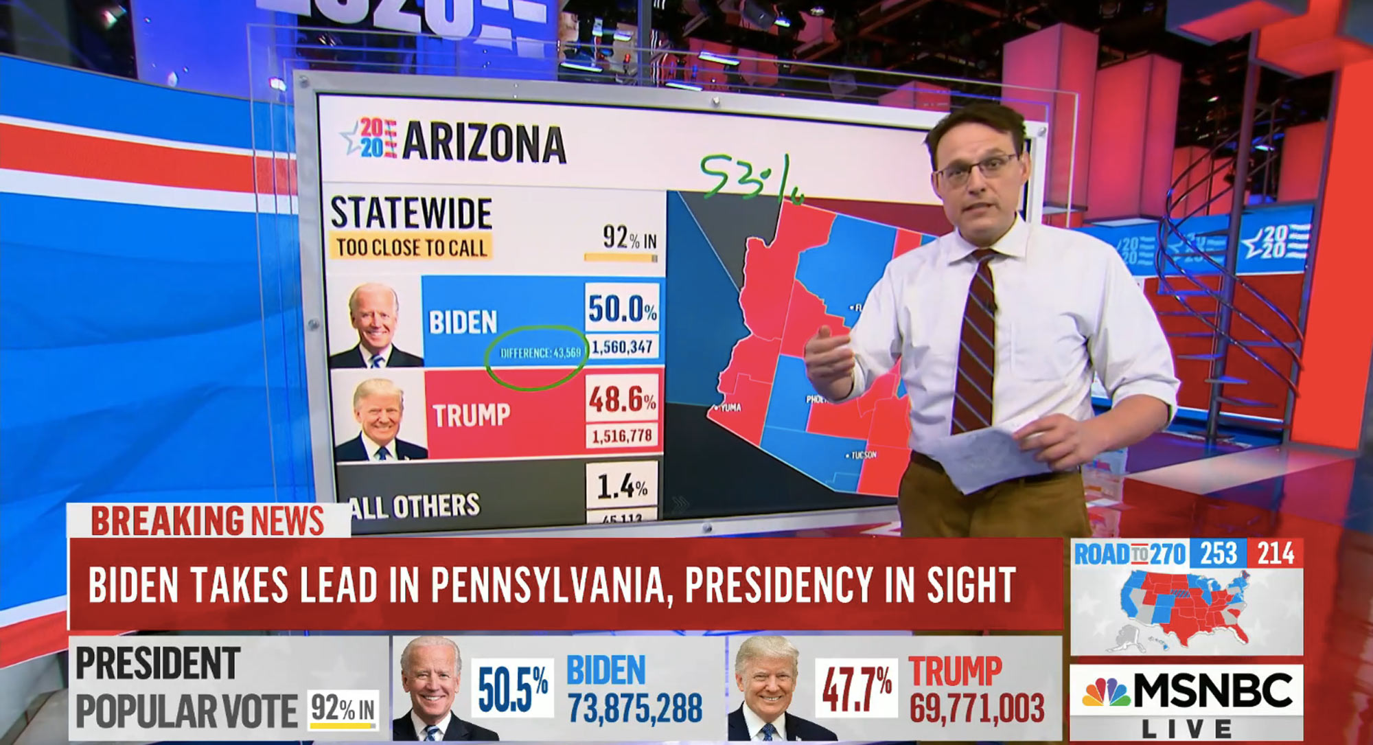
M 448 642 L 454 685 L 428 672 Z M 471 740 L 726 740 L 724 636 L 394 636 L 391 652 L 395 740 L 448 716 Z

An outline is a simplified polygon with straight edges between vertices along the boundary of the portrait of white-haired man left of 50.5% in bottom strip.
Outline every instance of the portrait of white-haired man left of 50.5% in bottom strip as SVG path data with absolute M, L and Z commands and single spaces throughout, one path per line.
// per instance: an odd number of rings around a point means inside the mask
M 500 735 L 453 713 L 463 679 L 463 654 L 446 636 L 420 636 L 401 652 L 401 687 L 411 694 L 411 711 L 391 722 L 393 741 L 450 742 Z

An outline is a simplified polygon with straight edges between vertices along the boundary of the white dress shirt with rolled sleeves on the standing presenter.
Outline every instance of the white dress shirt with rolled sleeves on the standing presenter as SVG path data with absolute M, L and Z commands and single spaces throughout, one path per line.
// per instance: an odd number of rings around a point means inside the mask
M 991 246 L 997 298 L 993 425 L 1016 416 L 1093 415 L 1093 372 L 1118 403 L 1153 396 L 1177 411 L 1179 381 L 1159 318 L 1120 256 L 1085 232 L 1017 219 Z M 901 359 L 910 448 L 947 437 L 976 247 L 957 231 L 887 264 L 851 331 L 854 390 Z

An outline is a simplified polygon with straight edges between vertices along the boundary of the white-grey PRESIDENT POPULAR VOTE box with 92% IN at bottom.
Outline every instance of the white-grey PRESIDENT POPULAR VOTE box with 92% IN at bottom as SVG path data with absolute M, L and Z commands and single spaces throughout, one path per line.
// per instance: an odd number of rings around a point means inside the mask
M 384 636 L 71 636 L 71 741 L 390 737 Z

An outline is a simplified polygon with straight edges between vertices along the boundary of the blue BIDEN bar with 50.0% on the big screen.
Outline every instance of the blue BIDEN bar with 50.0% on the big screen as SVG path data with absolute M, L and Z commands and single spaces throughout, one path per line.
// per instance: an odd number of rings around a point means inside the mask
M 437 275 L 422 278 L 426 367 L 575 367 L 586 353 L 589 282 L 655 283 L 658 278 Z M 662 302 L 659 302 L 662 305 Z M 659 329 L 665 309 L 658 312 Z M 597 364 L 662 364 L 652 357 L 592 359 Z M 490 352 L 487 357 L 487 352 Z

